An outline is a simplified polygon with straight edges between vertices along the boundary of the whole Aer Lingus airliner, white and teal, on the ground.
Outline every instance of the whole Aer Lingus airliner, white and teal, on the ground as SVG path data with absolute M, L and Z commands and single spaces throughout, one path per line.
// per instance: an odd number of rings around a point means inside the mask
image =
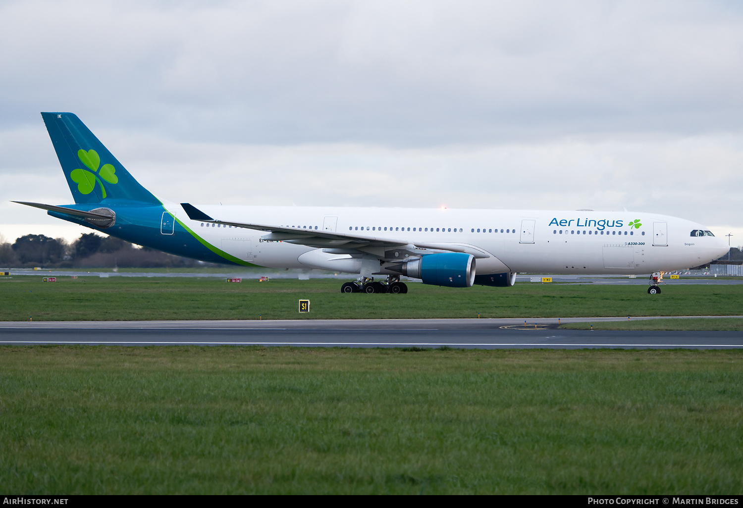
M 656 273 L 648 293 L 657 294 L 657 273 L 728 250 L 701 224 L 655 213 L 175 203 L 134 180 L 75 114 L 42 118 L 75 203 L 16 203 L 201 261 L 358 274 L 342 293 L 407 293 L 400 276 L 510 287 L 521 272 Z

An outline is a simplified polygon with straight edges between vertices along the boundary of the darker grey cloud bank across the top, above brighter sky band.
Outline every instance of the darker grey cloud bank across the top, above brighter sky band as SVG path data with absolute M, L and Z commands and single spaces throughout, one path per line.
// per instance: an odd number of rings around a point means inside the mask
M 740 127 L 742 24 L 732 2 L 10 2 L 1 121 L 398 146 L 718 131 Z

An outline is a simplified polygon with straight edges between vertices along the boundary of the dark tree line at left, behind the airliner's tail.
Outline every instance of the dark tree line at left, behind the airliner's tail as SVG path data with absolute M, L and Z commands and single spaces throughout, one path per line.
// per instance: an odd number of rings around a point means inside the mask
M 218 266 L 181 258 L 128 241 L 95 233 L 83 233 L 71 244 L 64 238 L 25 235 L 13 244 L 0 238 L 0 267 L 30 268 L 160 268 Z

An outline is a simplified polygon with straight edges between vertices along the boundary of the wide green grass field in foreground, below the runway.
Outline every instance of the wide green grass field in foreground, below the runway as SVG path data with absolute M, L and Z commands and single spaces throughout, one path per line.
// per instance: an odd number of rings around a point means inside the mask
M 741 494 L 742 360 L 4 346 L 0 490 Z

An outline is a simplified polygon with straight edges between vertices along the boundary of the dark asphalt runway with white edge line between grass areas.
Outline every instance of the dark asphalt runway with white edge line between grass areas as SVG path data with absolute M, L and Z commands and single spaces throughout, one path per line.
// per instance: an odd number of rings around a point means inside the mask
M 571 318 L 561 322 L 626 318 Z M 640 319 L 640 318 L 635 318 Z M 262 345 L 348 348 L 743 348 L 743 332 L 563 330 L 557 319 L 3 322 L 5 345 Z

